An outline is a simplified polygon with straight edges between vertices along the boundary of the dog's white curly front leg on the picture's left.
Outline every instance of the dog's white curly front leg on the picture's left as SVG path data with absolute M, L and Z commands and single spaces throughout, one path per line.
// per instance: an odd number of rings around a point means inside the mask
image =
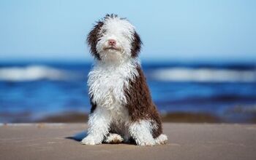
M 88 135 L 81 141 L 84 145 L 97 145 L 102 143 L 108 135 L 110 128 L 110 114 L 105 108 L 97 107 L 89 116 Z

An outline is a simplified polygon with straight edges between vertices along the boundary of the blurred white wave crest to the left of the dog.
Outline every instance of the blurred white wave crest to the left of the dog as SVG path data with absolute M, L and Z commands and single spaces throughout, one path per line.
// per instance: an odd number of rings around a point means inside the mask
M 78 74 L 44 65 L 0 68 L 0 81 L 65 81 L 74 78 L 78 78 Z

